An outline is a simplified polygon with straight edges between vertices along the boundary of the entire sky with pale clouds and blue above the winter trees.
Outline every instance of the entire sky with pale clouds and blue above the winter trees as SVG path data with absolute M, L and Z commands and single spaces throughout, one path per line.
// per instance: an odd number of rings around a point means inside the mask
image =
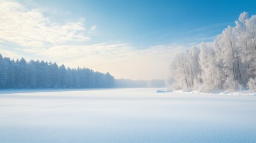
M 256 1 L 0 0 L 0 54 L 166 79 L 174 54 L 211 43 Z

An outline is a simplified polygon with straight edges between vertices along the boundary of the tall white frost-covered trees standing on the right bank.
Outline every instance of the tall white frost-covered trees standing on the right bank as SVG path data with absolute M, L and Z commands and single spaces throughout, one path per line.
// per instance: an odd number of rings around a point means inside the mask
M 256 91 L 256 15 L 240 14 L 213 43 L 177 54 L 171 64 L 174 89 L 203 92 Z

